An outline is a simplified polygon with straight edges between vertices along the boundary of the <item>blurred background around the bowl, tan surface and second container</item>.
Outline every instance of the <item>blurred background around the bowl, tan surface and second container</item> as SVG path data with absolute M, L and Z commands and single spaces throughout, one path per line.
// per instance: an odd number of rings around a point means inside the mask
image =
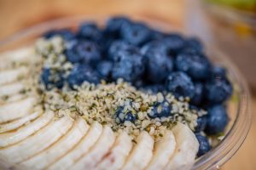
M 256 111 L 256 0 L 0 0 L 0 41 L 67 16 L 126 14 L 185 28 L 230 56 L 249 82 Z M 256 118 L 245 144 L 221 169 L 256 169 Z

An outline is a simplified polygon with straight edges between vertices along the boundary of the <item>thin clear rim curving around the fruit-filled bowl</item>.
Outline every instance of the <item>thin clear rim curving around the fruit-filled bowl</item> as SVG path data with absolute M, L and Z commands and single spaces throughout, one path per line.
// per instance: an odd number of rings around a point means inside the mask
M 4 38 L 0 40 L 0 48 L 4 45 L 9 43 L 18 41 L 19 39 L 32 36 L 38 32 L 49 31 L 50 29 L 54 29 L 55 27 L 59 26 L 70 26 L 73 24 L 79 24 L 82 21 L 88 20 L 107 20 L 109 17 L 113 15 L 78 15 L 78 16 L 71 16 L 71 17 L 63 17 L 56 20 L 49 20 L 46 22 L 42 22 L 38 25 L 28 27 L 24 30 L 18 31 L 13 36 Z M 147 19 L 144 17 L 131 17 L 137 20 L 143 20 L 153 22 L 154 24 L 157 23 L 156 27 L 166 26 L 166 27 L 175 27 L 169 26 L 167 23 L 163 22 L 162 20 L 152 20 Z M 69 23 L 67 25 L 67 23 Z M 62 27 L 63 28 L 63 27 Z M 183 32 L 183 29 L 181 30 Z M 185 34 L 186 35 L 186 34 Z M 207 47 L 211 47 L 207 44 Z M 211 47 L 214 48 L 214 47 Z M 214 48 L 215 49 L 215 48 Z M 235 77 L 236 82 L 240 88 L 239 93 L 239 102 L 238 102 L 238 109 L 236 111 L 236 120 L 233 123 L 230 131 L 225 135 L 224 139 L 212 150 L 207 152 L 206 155 L 201 156 L 199 159 L 195 161 L 194 166 L 192 169 L 218 169 L 222 166 L 226 161 L 229 161 L 232 156 L 236 154 L 236 151 L 241 147 L 241 144 L 247 137 L 247 133 L 249 132 L 251 122 L 252 122 L 252 113 L 250 111 L 250 92 L 247 87 L 247 82 L 241 76 L 240 71 L 236 68 L 236 66 L 227 59 L 223 52 L 219 50 L 214 50 L 218 54 L 218 58 L 224 62 L 224 65 L 229 68 L 229 72 L 232 77 Z M 220 57 L 221 56 L 221 57 Z

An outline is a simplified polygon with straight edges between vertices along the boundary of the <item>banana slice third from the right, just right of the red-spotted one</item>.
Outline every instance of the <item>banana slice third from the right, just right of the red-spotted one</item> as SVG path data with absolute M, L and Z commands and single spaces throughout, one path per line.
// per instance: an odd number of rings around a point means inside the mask
M 122 169 L 144 169 L 152 158 L 153 148 L 154 139 L 147 132 L 143 131 L 137 137 L 137 144 L 131 150 L 131 154 L 125 161 L 125 166 Z

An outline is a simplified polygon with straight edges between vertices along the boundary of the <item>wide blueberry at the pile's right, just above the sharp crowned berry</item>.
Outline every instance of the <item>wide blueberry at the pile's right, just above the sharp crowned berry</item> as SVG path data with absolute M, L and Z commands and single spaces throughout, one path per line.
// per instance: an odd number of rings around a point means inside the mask
M 175 62 L 177 71 L 186 72 L 195 80 L 203 80 L 209 76 L 210 62 L 202 54 L 182 53 L 177 55 Z

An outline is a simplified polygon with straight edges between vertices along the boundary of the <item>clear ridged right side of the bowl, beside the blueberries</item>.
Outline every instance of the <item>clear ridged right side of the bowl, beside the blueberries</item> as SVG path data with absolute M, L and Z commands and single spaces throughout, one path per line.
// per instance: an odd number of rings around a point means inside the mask
M 218 51 L 218 54 L 221 56 L 225 55 L 220 51 Z M 240 93 L 238 109 L 236 111 L 236 120 L 221 143 L 196 161 L 193 169 L 218 169 L 223 166 L 224 163 L 229 161 L 230 158 L 236 154 L 236 151 L 239 150 L 241 144 L 243 144 L 244 140 L 247 138 L 247 134 L 251 127 L 251 96 L 247 82 L 230 59 L 224 57 L 221 60 L 224 60 L 224 65 L 228 65 L 228 68 L 232 68 L 231 74 L 236 78 L 236 82 L 239 82 Z

